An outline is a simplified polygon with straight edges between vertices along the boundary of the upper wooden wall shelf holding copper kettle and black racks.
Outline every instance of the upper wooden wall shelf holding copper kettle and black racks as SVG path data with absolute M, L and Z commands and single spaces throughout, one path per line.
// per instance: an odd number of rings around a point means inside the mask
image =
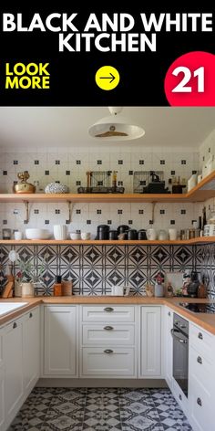
M 186 194 L 0 194 L 0 202 L 204 202 L 215 197 L 215 171 Z

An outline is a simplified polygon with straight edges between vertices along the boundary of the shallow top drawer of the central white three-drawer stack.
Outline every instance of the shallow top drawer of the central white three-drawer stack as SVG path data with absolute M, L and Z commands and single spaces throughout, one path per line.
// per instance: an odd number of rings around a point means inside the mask
M 115 305 L 102 305 L 102 306 L 83 306 L 83 321 L 91 321 L 95 323 L 102 321 L 134 321 L 135 309 L 134 307 L 119 307 Z

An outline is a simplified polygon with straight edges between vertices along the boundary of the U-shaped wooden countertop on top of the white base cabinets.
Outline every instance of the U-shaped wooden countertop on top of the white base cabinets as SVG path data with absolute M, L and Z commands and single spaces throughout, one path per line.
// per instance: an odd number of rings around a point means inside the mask
M 36 297 L 36 298 L 12 298 L 12 299 L 0 299 L 1 302 L 27 302 L 25 307 L 12 311 L 0 317 L 0 326 L 5 324 L 11 319 L 18 318 L 28 310 L 32 310 L 34 307 L 40 304 L 138 304 L 138 305 L 166 305 L 172 310 L 178 312 L 181 316 L 189 319 L 193 323 L 199 325 L 202 329 L 211 332 L 215 335 L 215 314 L 204 314 L 204 313 L 193 313 L 189 310 L 183 309 L 179 306 L 179 302 L 208 302 L 214 303 L 212 300 L 198 300 L 198 299 L 186 299 L 186 298 L 148 298 L 148 297 L 113 297 L 113 296 L 81 296 L 74 295 L 71 297 Z

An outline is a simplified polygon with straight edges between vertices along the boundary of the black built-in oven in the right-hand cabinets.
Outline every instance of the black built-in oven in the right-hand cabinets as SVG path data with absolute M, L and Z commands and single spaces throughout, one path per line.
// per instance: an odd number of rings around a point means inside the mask
M 173 314 L 173 378 L 183 393 L 188 396 L 189 373 L 189 321 Z

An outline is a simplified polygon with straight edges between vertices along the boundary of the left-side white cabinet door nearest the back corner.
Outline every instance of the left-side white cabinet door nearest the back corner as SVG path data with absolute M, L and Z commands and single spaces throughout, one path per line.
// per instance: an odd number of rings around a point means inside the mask
M 40 361 L 40 324 L 39 308 L 29 311 L 24 316 L 24 388 L 29 392 L 39 377 Z

